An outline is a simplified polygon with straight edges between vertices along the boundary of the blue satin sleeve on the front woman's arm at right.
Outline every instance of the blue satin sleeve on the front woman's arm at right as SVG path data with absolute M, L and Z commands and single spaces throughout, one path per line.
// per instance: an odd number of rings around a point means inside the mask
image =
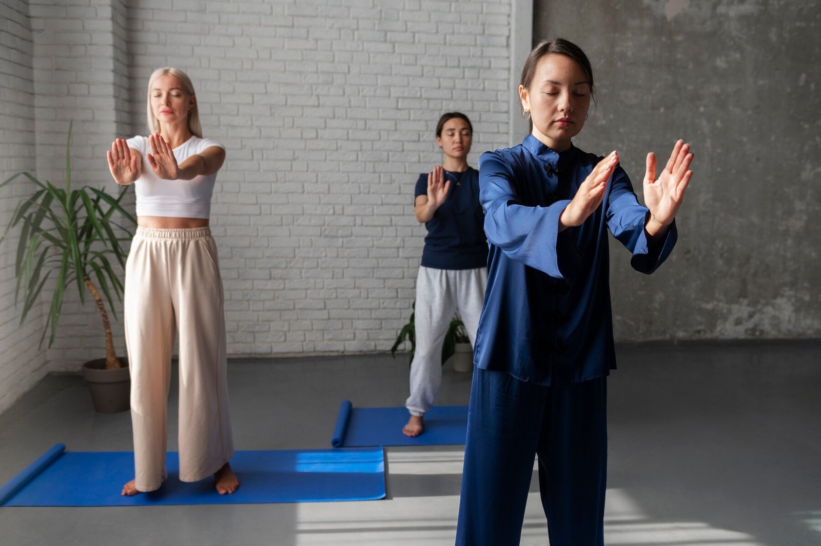
M 650 244 L 644 230 L 649 209 L 635 197 L 630 178 L 621 166 L 613 171 L 611 184 L 606 212 L 608 229 L 633 254 L 630 261 L 633 269 L 650 274 L 662 265 L 676 246 L 676 222 L 673 221 L 667 229 L 664 239 Z

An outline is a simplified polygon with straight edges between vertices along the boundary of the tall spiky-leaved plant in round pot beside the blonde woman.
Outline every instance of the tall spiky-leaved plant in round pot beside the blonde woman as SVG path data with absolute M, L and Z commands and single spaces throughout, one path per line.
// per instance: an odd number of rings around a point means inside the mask
M 85 362 L 83 375 L 89 381 L 94 407 L 100 412 L 122 412 L 128 409 L 130 378 L 127 362 L 117 358 L 112 340 L 111 325 L 103 302 L 104 294 L 115 318 L 116 309 L 112 294 L 122 301 L 123 284 L 120 275 L 112 267 L 112 259 L 125 267 L 126 253 L 121 242 L 131 238 L 131 232 L 114 220 L 115 213 L 122 215 L 131 225 L 136 221 L 126 212 L 121 202 L 128 188 L 114 197 L 103 189 L 84 186 L 71 189 L 71 125 L 66 143 L 66 184 L 57 188 L 54 184 L 38 180 L 29 172 L 19 172 L 0 184 L 0 188 L 18 177 L 25 177 L 33 184 L 33 193 L 17 204 L 2 243 L 11 228 L 21 225 L 17 243 L 15 275 L 15 303 L 23 302 L 21 324 L 34 304 L 46 281 L 55 274 L 56 285 L 51 306 L 46 315 L 43 346 L 49 334 L 48 346 L 57 334 L 63 296 L 72 286 L 85 303 L 85 292 L 91 294 L 105 332 L 106 357 Z M 117 233 L 122 235 L 118 236 Z M 108 391 L 114 391 L 107 394 Z

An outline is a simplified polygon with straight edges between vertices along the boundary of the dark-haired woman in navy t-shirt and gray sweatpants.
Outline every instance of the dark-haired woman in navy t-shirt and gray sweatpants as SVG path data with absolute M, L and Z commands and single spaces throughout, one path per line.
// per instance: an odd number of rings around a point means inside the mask
M 408 436 L 424 430 L 423 416 L 442 384 L 442 345 L 458 311 L 470 344 L 476 337 L 488 280 L 488 243 L 479 204 L 479 172 L 468 166 L 473 125 L 460 112 L 444 114 L 436 125 L 436 143 L 444 152 L 442 166 L 416 182 L 416 220 L 428 236 L 416 278 L 416 352 L 410 363 L 410 397 L 405 405 Z

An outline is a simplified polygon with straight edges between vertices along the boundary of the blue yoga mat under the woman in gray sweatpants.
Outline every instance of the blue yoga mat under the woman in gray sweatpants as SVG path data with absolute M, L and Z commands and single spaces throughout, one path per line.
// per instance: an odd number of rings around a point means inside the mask
M 465 444 L 467 406 L 437 406 L 424 414 L 424 432 L 410 438 L 402 434 L 408 421 L 405 407 L 353 407 L 345 400 L 339 406 L 331 445 L 350 448 L 370 445 Z

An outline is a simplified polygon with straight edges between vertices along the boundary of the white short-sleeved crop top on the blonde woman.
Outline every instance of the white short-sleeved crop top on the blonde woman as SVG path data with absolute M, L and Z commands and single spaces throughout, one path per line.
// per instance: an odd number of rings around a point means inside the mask
M 126 143 L 128 143 L 128 148 L 135 149 L 143 157 L 140 178 L 134 183 L 137 195 L 137 216 L 209 218 L 213 183 L 217 180 L 217 173 L 195 176 L 191 180 L 163 180 L 151 170 L 148 157 L 146 157 L 151 152 L 149 138 L 138 135 L 126 140 Z M 192 135 L 186 142 L 174 148 L 174 157 L 177 158 L 177 164 L 180 164 L 212 146 L 225 149 L 222 144 L 214 140 L 200 139 Z

